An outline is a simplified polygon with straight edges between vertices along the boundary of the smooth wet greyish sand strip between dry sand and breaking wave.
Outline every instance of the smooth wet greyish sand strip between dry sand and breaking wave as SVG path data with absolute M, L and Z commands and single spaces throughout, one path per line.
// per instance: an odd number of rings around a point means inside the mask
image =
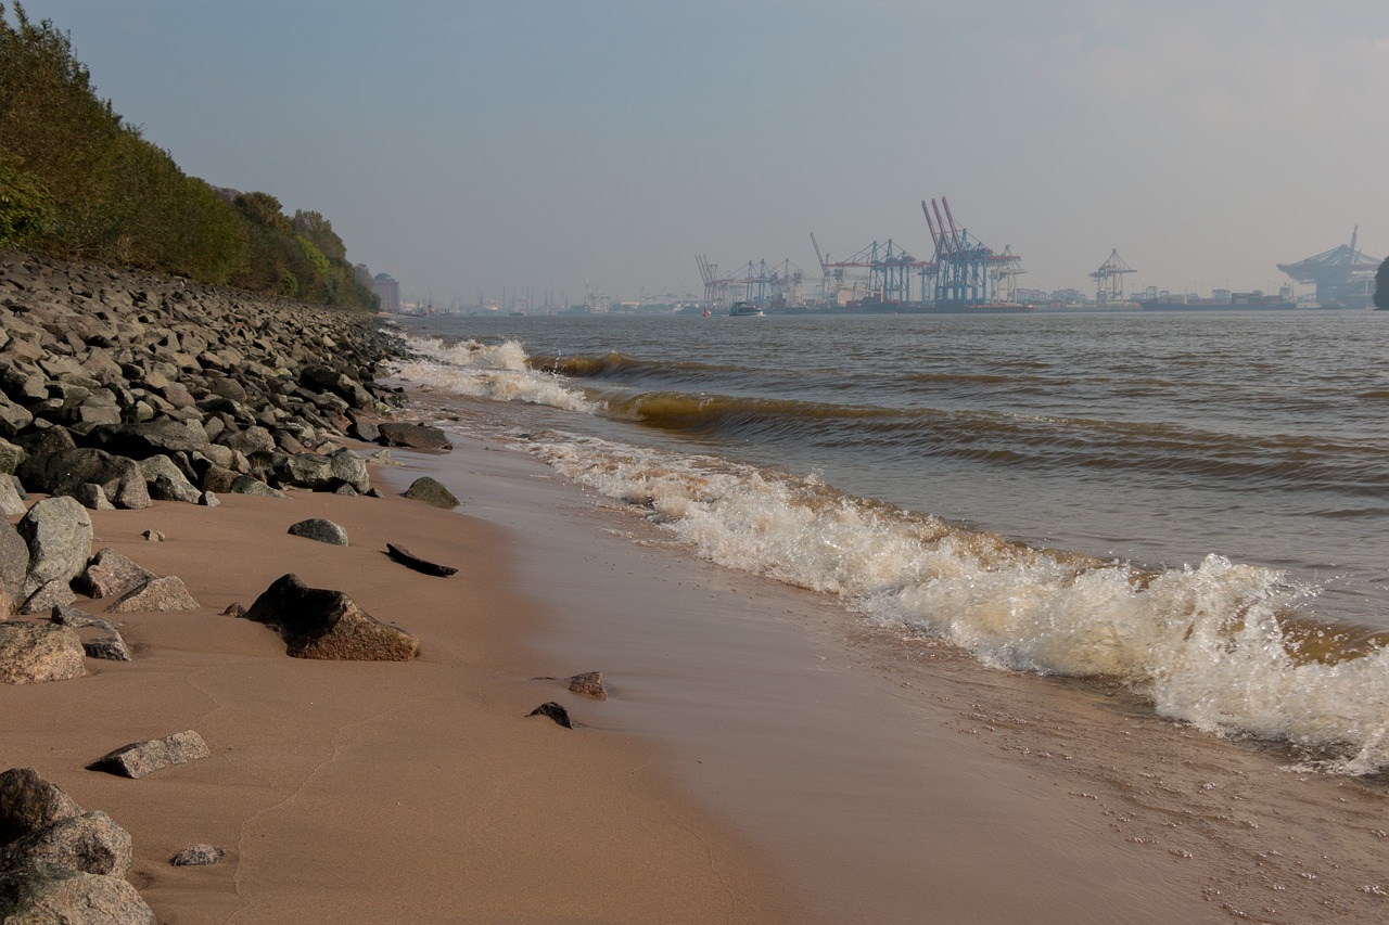
M 424 471 L 513 536 L 553 674 L 607 672 L 576 715 L 657 742 L 803 921 L 1382 921 L 1378 782 L 871 631 L 496 444 L 388 478 Z

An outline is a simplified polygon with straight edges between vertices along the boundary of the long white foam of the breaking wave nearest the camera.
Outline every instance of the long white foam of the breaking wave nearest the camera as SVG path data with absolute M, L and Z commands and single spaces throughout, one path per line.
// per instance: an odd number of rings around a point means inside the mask
M 1145 583 L 1121 562 L 1008 544 L 814 478 L 571 435 L 528 449 L 700 556 L 838 594 L 875 624 L 999 667 L 1117 678 L 1204 731 L 1328 749 L 1324 768 L 1389 765 L 1389 654 L 1289 656 L 1276 614 L 1314 592 L 1279 571 L 1208 556 Z

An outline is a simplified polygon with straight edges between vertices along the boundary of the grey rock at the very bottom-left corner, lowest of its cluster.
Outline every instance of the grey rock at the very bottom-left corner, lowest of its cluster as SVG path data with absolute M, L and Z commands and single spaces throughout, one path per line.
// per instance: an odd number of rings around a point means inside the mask
M 118 876 L 35 865 L 0 874 L 6 925 L 154 925 L 154 912 Z

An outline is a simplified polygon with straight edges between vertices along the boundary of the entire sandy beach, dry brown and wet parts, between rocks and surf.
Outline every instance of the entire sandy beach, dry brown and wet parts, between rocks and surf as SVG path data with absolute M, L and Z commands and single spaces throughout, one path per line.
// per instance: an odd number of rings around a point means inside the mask
M 515 450 L 393 454 L 382 499 L 92 512 L 93 550 L 179 575 L 201 607 L 124 615 L 129 664 L 7 689 L 6 762 L 131 831 L 161 922 L 1374 921 L 1351 886 L 1378 867 L 1374 790 L 856 628 Z M 425 474 L 464 507 L 399 496 Z M 310 517 L 351 544 L 286 533 Z M 413 572 L 388 542 L 460 572 Z M 415 633 L 419 657 L 289 658 L 222 615 L 286 572 Z M 582 671 L 608 700 L 538 679 Z M 576 728 L 526 717 L 546 700 Z M 183 729 L 213 756 L 85 769 Z M 196 842 L 228 856 L 168 864 Z

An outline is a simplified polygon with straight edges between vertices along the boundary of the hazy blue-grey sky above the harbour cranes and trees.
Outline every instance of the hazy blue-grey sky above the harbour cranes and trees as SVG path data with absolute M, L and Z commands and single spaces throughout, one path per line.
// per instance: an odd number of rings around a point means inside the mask
M 8 6 L 8 4 L 7 4 Z M 818 278 L 922 199 L 1024 286 L 1276 289 L 1389 251 L 1385 0 L 29 0 L 185 171 L 406 297 Z M 1301 292 L 1300 289 L 1299 292 Z

